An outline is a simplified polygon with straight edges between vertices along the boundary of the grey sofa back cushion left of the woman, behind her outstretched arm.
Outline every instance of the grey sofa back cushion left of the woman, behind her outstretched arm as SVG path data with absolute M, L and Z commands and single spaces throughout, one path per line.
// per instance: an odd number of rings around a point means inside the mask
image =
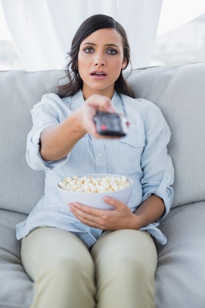
M 0 71 L 0 208 L 29 214 L 44 193 L 44 171 L 30 169 L 26 140 L 30 110 L 52 92 L 59 71 Z

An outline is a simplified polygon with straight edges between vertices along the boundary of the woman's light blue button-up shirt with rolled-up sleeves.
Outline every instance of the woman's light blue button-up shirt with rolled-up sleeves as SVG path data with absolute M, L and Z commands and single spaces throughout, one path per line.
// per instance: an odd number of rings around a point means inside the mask
M 57 193 L 60 180 L 74 174 L 116 173 L 129 176 L 134 185 L 128 206 L 134 213 L 151 194 L 162 198 L 164 215 L 139 230 L 147 230 L 161 245 L 166 236 L 157 228 L 170 211 L 174 190 L 174 168 L 167 144 L 170 128 L 160 109 L 143 98 L 131 98 L 115 91 L 111 103 L 117 113 L 129 119 L 128 134 L 120 139 L 96 139 L 85 134 L 71 152 L 58 161 L 44 161 L 39 153 L 39 139 L 44 128 L 58 125 L 84 103 L 82 90 L 60 98 L 55 93 L 42 96 L 30 111 L 33 126 L 27 138 L 26 160 L 30 168 L 45 170 L 45 194 L 26 220 L 16 225 L 16 237 L 21 239 L 39 226 L 53 226 L 77 235 L 92 246 L 102 230 L 88 227 L 65 208 Z

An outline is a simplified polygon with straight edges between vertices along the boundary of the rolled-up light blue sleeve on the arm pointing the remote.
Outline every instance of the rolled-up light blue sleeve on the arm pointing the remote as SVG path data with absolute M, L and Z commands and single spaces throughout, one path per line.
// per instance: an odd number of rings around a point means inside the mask
M 42 159 L 39 151 L 42 131 L 46 127 L 59 124 L 58 100 L 60 100 L 60 98 L 55 93 L 44 94 L 41 101 L 35 104 L 33 109 L 30 111 L 33 126 L 27 136 L 26 161 L 29 167 L 34 170 L 59 169 L 59 167 L 64 164 L 70 156 L 69 153 L 59 160 L 45 161 Z

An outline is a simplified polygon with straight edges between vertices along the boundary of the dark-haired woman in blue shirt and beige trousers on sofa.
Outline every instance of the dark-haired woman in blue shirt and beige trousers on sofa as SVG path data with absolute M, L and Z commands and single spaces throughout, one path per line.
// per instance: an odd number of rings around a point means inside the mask
M 32 169 L 45 170 L 46 180 L 45 195 L 16 225 L 22 263 L 34 281 L 30 308 L 154 308 L 153 238 L 167 242 L 157 226 L 174 194 L 169 126 L 159 108 L 135 99 L 124 80 L 130 49 L 112 17 L 85 20 L 69 55 L 69 83 L 43 95 L 31 110 L 26 158 Z M 127 136 L 97 134 L 92 117 L 98 109 L 128 116 Z M 113 211 L 80 203 L 63 207 L 57 183 L 95 172 L 130 176 L 128 204 L 105 198 Z

